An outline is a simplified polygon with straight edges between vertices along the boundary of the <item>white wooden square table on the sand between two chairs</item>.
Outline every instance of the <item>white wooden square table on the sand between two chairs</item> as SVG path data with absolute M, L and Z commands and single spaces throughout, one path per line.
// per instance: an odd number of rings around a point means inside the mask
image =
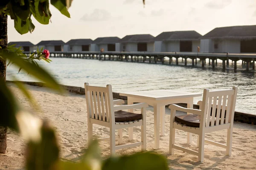
M 154 149 L 159 148 L 160 134 L 164 136 L 165 106 L 175 103 L 187 103 L 187 108 L 193 108 L 194 97 L 202 96 L 200 93 L 189 93 L 175 90 L 154 90 L 120 93 L 127 96 L 127 104 L 145 102 L 154 107 Z M 128 110 L 133 112 L 133 109 Z M 160 127 L 161 126 L 161 127 Z M 129 140 L 133 139 L 133 127 L 129 128 Z M 188 133 L 187 142 L 191 142 L 191 134 Z

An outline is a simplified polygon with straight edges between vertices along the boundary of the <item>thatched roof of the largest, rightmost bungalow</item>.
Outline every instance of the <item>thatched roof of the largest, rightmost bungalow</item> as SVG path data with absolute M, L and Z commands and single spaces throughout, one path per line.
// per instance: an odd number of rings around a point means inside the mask
M 230 26 L 215 28 L 202 39 L 256 39 L 256 26 Z

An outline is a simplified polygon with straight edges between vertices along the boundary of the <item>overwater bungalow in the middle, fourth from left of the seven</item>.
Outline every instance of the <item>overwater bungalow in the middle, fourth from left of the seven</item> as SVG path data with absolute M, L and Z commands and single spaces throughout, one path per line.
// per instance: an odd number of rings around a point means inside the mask
M 91 44 L 91 51 L 119 51 L 119 37 L 99 37 Z

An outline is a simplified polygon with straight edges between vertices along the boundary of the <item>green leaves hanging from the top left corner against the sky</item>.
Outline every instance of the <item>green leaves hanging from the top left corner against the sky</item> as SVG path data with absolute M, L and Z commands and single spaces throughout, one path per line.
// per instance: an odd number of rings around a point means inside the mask
M 51 4 L 67 17 L 70 17 L 67 9 L 71 2 L 72 0 L 51 0 Z M 1 0 L 0 13 L 10 15 L 14 20 L 15 29 L 20 34 L 34 31 L 32 16 L 41 24 L 49 24 L 52 16 L 49 0 Z

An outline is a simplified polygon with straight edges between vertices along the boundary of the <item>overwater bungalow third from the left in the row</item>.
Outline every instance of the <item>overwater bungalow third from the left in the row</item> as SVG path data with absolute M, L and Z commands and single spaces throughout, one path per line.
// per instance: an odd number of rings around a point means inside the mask
M 92 39 L 73 39 L 66 42 L 64 51 L 91 51 Z

